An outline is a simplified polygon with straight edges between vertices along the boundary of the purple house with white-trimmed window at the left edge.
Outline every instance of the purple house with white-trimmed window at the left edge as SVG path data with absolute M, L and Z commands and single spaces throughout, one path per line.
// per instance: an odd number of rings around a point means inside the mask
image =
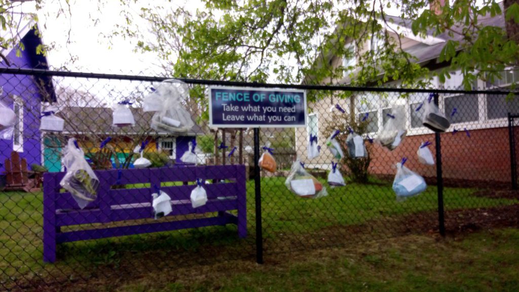
M 27 23 L 23 27 L 20 26 L 21 29 L 16 36 L 4 36 L 19 39 L 20 45 L 0 50 L 9 61 L 9 64 L 4 60 L 0 62 L 0 67 L 48 69 L 46 57 L 36 54 L 42 39 L 37 35 L 35 25 Z M 0 91 L 0 101 L 15 111 L 17 116 L 12 139 L 0 139 L 0 173 L 5 171 L 4 161 L 10 157 L 12 151 L 19 152 L 28 165 L 43 165 L 39 116 L 42 101 L 56 100 L 51 78 L 2 73 Z

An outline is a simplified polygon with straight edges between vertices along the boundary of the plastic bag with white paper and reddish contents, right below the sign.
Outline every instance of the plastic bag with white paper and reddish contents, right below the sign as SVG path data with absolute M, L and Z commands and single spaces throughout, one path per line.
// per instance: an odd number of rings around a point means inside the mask
M 296 160 L 290 168 L 285 186 L 294 194 L 306 198 L 319 198 L 328 195 L 324 185 L 310 175 L 301 162 Z

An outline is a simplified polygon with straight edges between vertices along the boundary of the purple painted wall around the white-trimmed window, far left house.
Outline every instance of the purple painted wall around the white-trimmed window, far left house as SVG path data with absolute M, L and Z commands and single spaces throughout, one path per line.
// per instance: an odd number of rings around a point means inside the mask
M 25 49 L 21 51 L 21 56 L 16 56 L 16 49 L 13 49 L 7 58 L 11 62 L 11 68 L 40 68 L 46 69 L 45 57 L 36 55 L 36 46 L 41 40 L 34 35 L 34 31 L 29 31 L 22 39 Z M 0 66 L 6 67 L 4 62 Z M 39 81 L 39 80 L 38 80 Z M 48 79 L 45 81 L 49 81 Z M 47 84 L 48 83 L 48 84 Z M 48 88 L 52 88 L 52 83 L 47 82 Z M 27 164 L 42 164 L 42 151 L 40 144 L 39 116 L 40 101 L 43 100 L 42 94 L 36 86 L 35 77 L 26 75 L 0 74 L 0 86 L 4 92 L 0 100 L 8 107 L 13 109 L 12 96 L 16 95 L 23 101 L 23 152 L 20 156 L 27 160 Z M 52 94 L 53 96 L 53 94 Z M 0 140 L 0 163 L 4 164 L 6 158 L 10 157 L 13 150 L 13 141 Z M 5 171 L 4 165 L 0 167 L 0 173 Z

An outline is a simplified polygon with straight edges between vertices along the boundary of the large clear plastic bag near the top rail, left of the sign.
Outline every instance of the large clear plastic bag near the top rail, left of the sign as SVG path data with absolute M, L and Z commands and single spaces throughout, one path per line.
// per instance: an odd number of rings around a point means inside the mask
M 165 81 L 160 85 L 159 95 L 162 96 L 163 104 L 161 111 L 152 117 L 152 129 L 172 133 L 189 131 L 195 123 L 182 105 L 189 98 L 189 88 L 176 80 Z

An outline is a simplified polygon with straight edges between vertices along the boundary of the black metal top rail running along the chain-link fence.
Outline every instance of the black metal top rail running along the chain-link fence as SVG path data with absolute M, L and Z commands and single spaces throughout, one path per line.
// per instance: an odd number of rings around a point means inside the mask
M 344 85 L 305 85 L 305 84 L 280 84 L 280 83 L 256 83 L 241 81 L 220 81 L 208 79 L 172 78 L 159 76 L 139 76 L 123 74 L 102 74 L 86 72 L 52 71 L 42 69 L 0 68 L 0 74 L 19 74 L 34 76 L 58 76 L 79 77 L 97 79 L 119 79 L 128 81 L 161 82 L 168 79 L 176 79 L 188 84 L 217 85 L 217 86 L 239 86 L 255 88 L 290 88 L 304 90 L 330 90 L 330 91 L 372 91 L 372 92 L 407 92 L 407 93 L 438 93 L 438 94 L 495 94 L 495 95 L 519 95 L 519 91 L 507 90 L 455 90 L 455 89 L 418 89 L 418 88 L 391 88 L 391 87 L 354 87 Z

